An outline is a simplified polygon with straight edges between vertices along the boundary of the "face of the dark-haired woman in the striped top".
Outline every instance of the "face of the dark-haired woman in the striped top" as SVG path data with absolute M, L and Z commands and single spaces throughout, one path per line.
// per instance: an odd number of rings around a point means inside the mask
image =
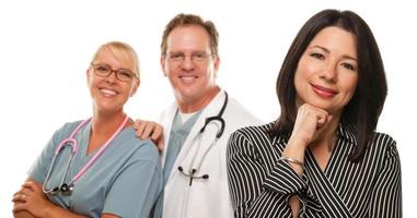
M 340 114 L 358 83 L 356 37 L 343 28 L 323 28 L 301 56 L 294 76 L 297 102 Z

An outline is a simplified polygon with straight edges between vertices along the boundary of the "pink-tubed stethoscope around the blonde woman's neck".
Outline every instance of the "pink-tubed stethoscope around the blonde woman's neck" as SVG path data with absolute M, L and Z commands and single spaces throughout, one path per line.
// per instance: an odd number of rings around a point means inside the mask
M 129 118 L 126 116 L 125 120 L 123 121 L 123 123 L 120 124 L 120 126 L 117 129 L 117 131 L 112 135 L 111 138 L 107 140 L 107 142 L 105 142 L 105 144 L 103 146 L 100 147 L 100 149 L 97 150 L 97 153 L 94 154 L 94 156 L 82 167 L 82 169 L 72 178 L 72 180 L 67 184 L 65 183 L 66 181 L 66 178 L 67 178 L 67 174 L 68 174 L 68 169 L 70 168 L 71 166 L 71 161 L 72 161 L 72 158 L 73 156 L 77 154 L 78 152 L 78 142 L 77 140 L 74 138 L 76 134 L 80 131 L 80 129 L 82 126 L 84 126 L 89 121 L 91 120 L 91 118 L 82 121 L 79 125 L 77 125 L 77 128 L 72 131 L 71 135 L 63 140 L 61 143 L 59 143 L 58 147 L 55 149 L 55 154 L 54 154 L 54 158 L 53 158 L 53 161 L 50 164 L 50 167 L 49 167 L 49 170 L 48 170 L 48 173 L 46 174 L 46 179 L 45 179 L 45 182 L 44 182 L 44 185 L 42 186 L 43 191 L 45 194 L 51 194 L 51 195 L 57 195 L 58 193 L 62 193 L 63 195 L 71 195 L 72 193 L 72 190 L 73 190 L 73 185 L 74 183 L 81 178 L 81 175 L 83 175 L 85 173 L 85 171 L 97 160 L 97 158 L 103 154 L 103 152 L 107 148 L 107 146 L 112 143 L 112 141 L 117 136 L 117 134 L 123 130 L 123 128 L 125 126 L 126 122 L 129 120 Z M 62 175 L 62 179 L 59 183 L 58 186 L 55 186 L 53 189 L 47 189 L 47 183 L 49 182 L 49 179 L 50 179 L 50 174 L 54 170 L 54 167 L 55 167 L 55 161 L 59 155 L 59 153 L 66 147 L 66 146 L 70 146 L 71 147 L 71 155 L 68 159 L 68 162 L 67 162 L 67 167 L 66 167 L 66 170 L 63 172 L 63 175 Z

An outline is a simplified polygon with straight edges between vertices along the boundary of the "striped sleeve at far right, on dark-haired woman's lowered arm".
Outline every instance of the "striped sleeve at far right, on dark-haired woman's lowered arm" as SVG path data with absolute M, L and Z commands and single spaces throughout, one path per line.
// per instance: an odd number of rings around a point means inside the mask
M 380 174 L 373 185 L 368 217 L 403 217 L 399 156 L 395 141 L 390 140 Z

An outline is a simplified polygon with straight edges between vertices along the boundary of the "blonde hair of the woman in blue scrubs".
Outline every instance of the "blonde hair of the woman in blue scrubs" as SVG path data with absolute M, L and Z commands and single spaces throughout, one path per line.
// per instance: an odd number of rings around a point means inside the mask
M 138 77 L 138 80 L 140 78 L 139 58 L 131 46 L 121 41 L 109 41 L 103 44 L 99 47 L 97 51 L 95 51 L 91 62 L 94 62 L 94 60 L 97 59 L 99 53 L 104 49 L 108 49 L 114 55 L 114 57 L 120 62 L 134 62 L 134 73 Z

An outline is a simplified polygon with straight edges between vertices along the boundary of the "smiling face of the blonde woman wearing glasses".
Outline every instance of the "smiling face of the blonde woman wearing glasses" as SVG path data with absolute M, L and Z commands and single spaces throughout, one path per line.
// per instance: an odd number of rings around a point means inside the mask
M 107 48 L 104 48 L 99 52 L 97 58 L 93 61 L 93 65 L 106 65 L 113 72 L 108 76 L 102 76 L 95 72 L 102 70 L 101 66 L 96 68 L 96 70 L 91 66 L 88 70 L 88 84 L 95 110 L 105 113 L 123 111 L 123 106 L 127 99 L 136 93 L 139 80 L 134 77 L 126 82 L 119 81 L 115 72 L 120 69 L 135 72 L 135 63 L 132 61 L 120 60 L 116 59 Z

